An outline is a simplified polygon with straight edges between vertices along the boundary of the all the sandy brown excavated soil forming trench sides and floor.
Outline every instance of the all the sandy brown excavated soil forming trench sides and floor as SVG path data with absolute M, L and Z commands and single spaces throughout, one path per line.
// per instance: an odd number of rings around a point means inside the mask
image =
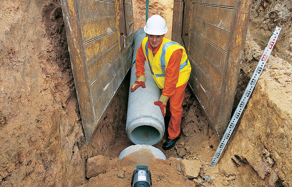
M 219 141 L 187 88 L 181 139 L 169 151 L 155 145 L 167 160 L 149 163 L 152 186 L 196 186 L 181 159 L 201 162 L 203 186 L 292 186 L 291 3 L 253 2 L 234 108 L 275 26 L 282 31 L 218 164 L 208 165 Z M 171 28 L 173 4 L 149 4 L 149 15 L 162 15 Z M 140 6 L 136 30 L 145 25 L 144 5 L 133 5 Z M 60 1 L 1 1 L 0 20 L 0 185 L 130 186 L 137 161 L 117 158 L 132 145 L 125 132 L 129 75 L 87 146 Z M 88 179 L 87 159 L 96 155 L 106 157 L 105 173 Z

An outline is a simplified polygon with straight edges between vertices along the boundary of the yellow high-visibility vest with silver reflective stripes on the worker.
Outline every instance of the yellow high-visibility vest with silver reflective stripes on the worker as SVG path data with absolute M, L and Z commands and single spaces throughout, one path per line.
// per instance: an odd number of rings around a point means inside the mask
M 189 80 L 191 72 L 190 61 L 187 59 L 186 50 L 179 43 L 162 38 L 162 44 L 160 45 L 155 57 L 153 57 L 152 50 L 148 48 L 148 37 L 143 39 L 142 48 L 146 61 L 149 65 L 150 72 L 152 73 L 152 76 L 160 89 L 164 88 L 165 68 L 168 65 L 169 58 L 171 57 L 173 51 L 177 49 L 182 49 L 183 55 L 181 57 L 181 65 L 176 87 L 183 85 Z

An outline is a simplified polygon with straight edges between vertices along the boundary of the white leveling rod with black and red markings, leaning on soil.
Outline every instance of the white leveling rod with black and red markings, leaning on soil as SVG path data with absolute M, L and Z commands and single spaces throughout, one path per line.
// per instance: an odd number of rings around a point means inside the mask
M 254 89 L 254 86 L 256 85 L 256 82 L 258 81 L 259 79 L 259 76 L 260 74 L 262 73 L 262 70 L 265 66 L 265 63 L 267 62 L 268 60 L 268 57 L 270 56 L 272 50 L 273 50 L 273 47 L 279 37 L 279 34 L 281 32 L 281 27 L 276 27 L 276 29 L 274 30 L 268 44 L 266 45 L 265 47 L 265 50 L 259 60 L 259 63 L 258 65 L 256 66 L 256 69 L 255 71 L 253 72 L 253 76 L 251 77 L 250 79 L 250 82 L 248 83 L 240 101 L 239 101 L 239 104 L 237 105 L 237 108 L 231 118 L 231 121 L 230 123 L 228 124 L 227 126 L 227 129 L 218 145 L 218 148 L 210 162 L 210 166 L 215 166 L 218 162 L 218 159 L 220 157 L 220 155 L 222 154 L 222 151 L 223 149 L 225 148 L 225 145 L 227 144 L 227 141 L 232 133 L 232 131 L 234 130 L 234 127 L 240 117 L 240 115 L 242 114 L 242 111 L 246 105 L 246 102 L 247 100 L 250 98 L 250 94 L 251 92 L 253 91 Z

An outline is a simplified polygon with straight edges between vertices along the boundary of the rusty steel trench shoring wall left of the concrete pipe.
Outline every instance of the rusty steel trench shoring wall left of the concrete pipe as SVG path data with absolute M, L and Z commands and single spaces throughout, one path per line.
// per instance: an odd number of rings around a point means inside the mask
M 126 2 L 61 0 L 87 144 L 132 63 L 133 10 Z

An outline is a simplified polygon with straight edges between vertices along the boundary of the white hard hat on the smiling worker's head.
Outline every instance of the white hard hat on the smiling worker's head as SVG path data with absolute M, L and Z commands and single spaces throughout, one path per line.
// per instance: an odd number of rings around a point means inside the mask
M 167 30 L 165 20 L 159 15 L 151 16 L 144 26 L 145 33 L 150 35 L 164 35 Z

